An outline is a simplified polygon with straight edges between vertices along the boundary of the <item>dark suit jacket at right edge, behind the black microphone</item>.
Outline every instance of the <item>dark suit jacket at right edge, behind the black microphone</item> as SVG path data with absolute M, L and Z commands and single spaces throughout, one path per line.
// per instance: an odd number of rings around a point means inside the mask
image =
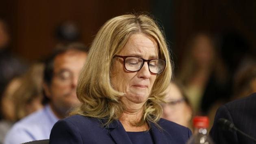
M 210 130 L 210 136 L 216 144 L 254 144 L 240 133 L 223 131 L 217 124 L 220 118 L 228 119 L 238 129 L 256 139 L 256 93 L 221 106 Z

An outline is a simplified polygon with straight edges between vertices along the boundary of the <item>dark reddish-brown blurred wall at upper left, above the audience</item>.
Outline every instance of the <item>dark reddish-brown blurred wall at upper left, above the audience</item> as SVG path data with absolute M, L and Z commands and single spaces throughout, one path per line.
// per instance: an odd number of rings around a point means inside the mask
M 131 11 L 148 11 L 148 0 L 5 0 L 1 7 L 13 30 L 13 51 L 28 61 L 46 57 L 57 43 L 54 29 L 77 23 L 81 41 L 90 44 L 103 23 Z M 12 7 L 12 9 L 10 9 Z M 0 11 L 1 12 L 1 11 Z

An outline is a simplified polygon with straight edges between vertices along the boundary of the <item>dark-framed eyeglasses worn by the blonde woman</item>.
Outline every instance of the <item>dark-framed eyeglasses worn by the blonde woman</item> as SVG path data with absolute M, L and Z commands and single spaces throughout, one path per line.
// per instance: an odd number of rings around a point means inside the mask
M 143 59 L 133 56 L 115 55 L 124 59 L 124 68 L 130 72 L 137 72 L 141 70 L 145 61 L 148 63 L 148 69 L 153 74 L 161 74 L 165 69 L 165 60 L 163 59 Z

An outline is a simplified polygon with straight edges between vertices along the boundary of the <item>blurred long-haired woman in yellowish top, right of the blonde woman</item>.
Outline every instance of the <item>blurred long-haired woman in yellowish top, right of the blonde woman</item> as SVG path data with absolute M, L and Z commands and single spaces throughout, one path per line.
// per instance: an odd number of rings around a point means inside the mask
M 230 78 L 210 34 L 193 35 L 177 74 L 195 114 L 207 114 L 214 102 L 230 96 Z

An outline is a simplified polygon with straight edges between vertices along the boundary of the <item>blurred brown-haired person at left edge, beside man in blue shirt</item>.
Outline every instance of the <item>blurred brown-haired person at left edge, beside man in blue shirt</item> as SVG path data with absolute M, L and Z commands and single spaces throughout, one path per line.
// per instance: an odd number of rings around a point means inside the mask
M 43 64 L 32 65 L 28 71 L 11 80 L 1 100 L 0 143 L 13 123 L 43 107 Z

